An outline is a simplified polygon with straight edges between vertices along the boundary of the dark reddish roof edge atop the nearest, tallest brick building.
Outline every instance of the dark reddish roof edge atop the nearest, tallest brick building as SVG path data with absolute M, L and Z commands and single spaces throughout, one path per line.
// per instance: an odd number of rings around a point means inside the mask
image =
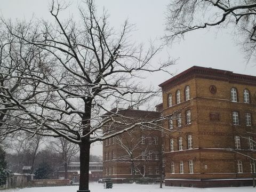
M 229 82 L 240 83 L 240 84 L 256 85 L 255 76 L 236 74 L 236 73 L 233 73 L 233 71 L 228 71 L 228 70 L 193 66 L 183 71 L 182 73 L 168 79 L 167 81 L 159 84 L 158 86 L 164 89 L 165 86 L 168 86 L 170 84 L 175 86 L 185 81 L 188 81 L 189 79 L 194 77 L 216 79 L 216 80 L 229 81 Z

